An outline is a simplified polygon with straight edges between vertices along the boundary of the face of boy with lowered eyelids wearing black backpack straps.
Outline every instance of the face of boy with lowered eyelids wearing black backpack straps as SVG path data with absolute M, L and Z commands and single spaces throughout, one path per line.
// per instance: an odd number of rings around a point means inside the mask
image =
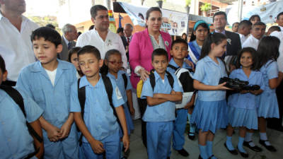
M 79 66 L 81 71 L 87 78 L 96 76 L 99 73 L 99 68 L 103 65 L 103 60 L 98 60 L 92 53 L 80 54 L 79 55 Z

